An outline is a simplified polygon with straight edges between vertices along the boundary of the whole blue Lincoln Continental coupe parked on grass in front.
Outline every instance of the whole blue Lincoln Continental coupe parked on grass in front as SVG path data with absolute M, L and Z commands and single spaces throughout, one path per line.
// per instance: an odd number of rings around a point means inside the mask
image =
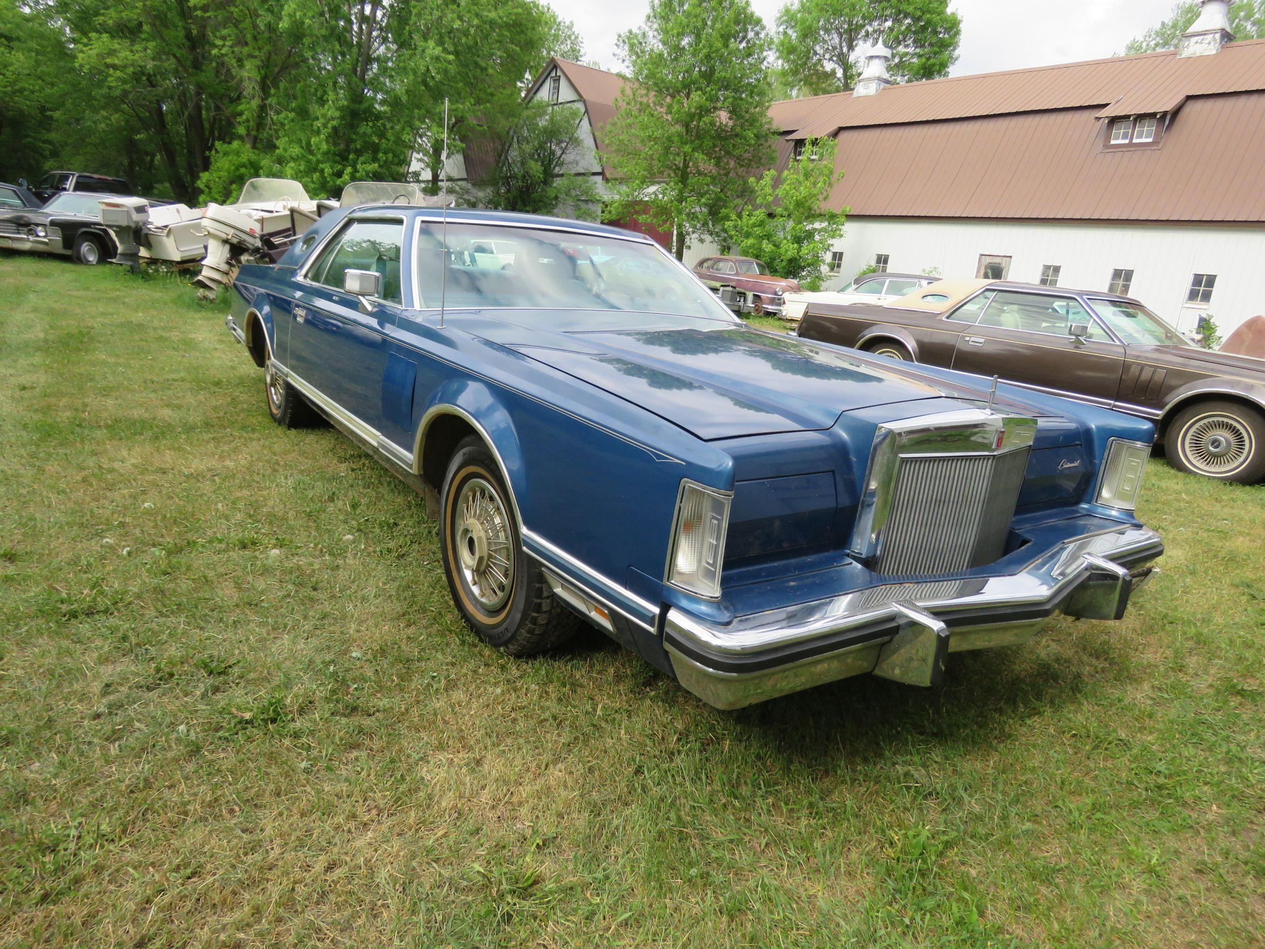
M 340 209 L 228 325 L 273 419 L 428 496 L 488 644 L 587 620 L 722 709 L 1118 620 L 1164 549 L 1150 423 L 748 328 L 614 228 Z

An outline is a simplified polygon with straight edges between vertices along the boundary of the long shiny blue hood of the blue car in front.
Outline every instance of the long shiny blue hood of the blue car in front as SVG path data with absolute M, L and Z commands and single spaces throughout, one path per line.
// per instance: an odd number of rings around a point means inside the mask
M 705 440 L 829 429 L 844 412 L 896 402 L 980 399 L 887 359 L 743 326 L 479 335 Z

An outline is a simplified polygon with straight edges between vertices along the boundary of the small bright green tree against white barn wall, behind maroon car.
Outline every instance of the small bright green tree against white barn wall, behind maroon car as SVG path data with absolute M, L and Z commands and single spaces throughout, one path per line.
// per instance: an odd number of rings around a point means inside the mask
M 835 142 L 810 142 L 803 158 L 782 173 L 769 170 L 755 185 L 751 204 L 726 223 L 730 243 L 745 257 L 764 261 L 779 277 L 817 290 L 825 276 L 826 254 L 844 234 L 845 211 L 827 206 L 830 192 L 842 178 L 835 172 Z

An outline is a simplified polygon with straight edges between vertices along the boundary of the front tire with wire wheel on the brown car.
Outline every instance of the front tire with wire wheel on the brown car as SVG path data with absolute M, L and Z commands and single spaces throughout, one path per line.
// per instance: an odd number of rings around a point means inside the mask
M 1265 477 L 1265 416 L 1241 402 L 1209 400 L 1183 409 L 1165 447 L 1178 471 L 1238 485 Z

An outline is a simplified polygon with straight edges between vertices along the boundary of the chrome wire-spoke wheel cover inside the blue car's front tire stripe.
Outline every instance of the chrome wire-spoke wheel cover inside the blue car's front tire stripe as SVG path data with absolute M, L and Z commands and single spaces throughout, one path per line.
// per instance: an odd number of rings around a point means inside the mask
M 514 537 L 500 493 L 483 478 L 457 495 L 453 545 L 466 588 L 482 609 L 500 610 L 514 592 Z

